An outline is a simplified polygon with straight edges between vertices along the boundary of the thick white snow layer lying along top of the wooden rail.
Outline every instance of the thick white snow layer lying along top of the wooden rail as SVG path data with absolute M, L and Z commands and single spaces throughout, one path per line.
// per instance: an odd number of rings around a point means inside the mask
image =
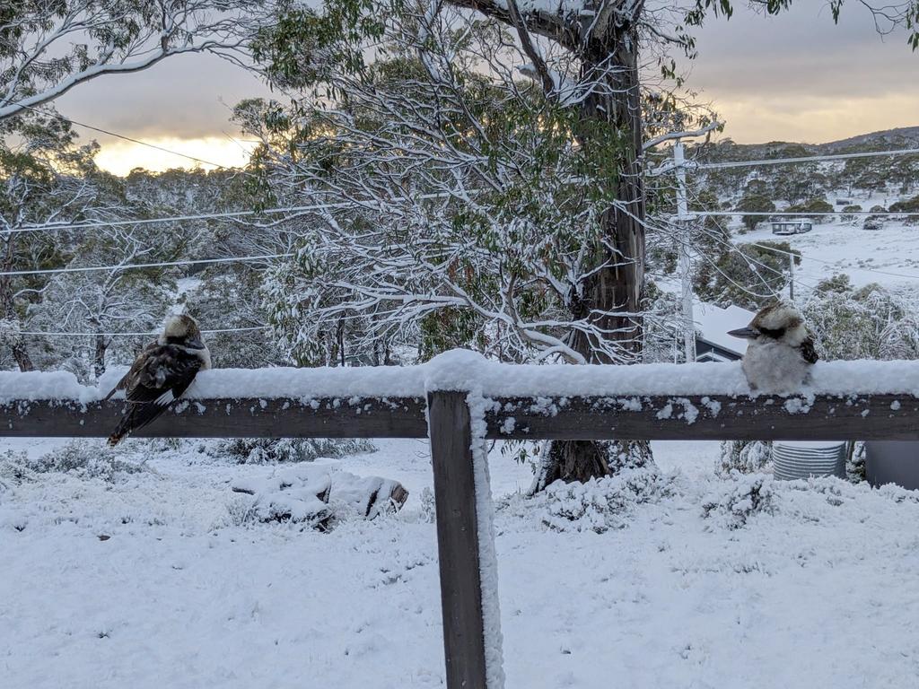
M 111 390 L 81 386 L 64 372 L 0 372 L 0 401 L 97 400 Z M 514 366 L 453 350 L 414 367 L 220 368 L 201 371 L 185 394 L 194 400 L 424 397 L 428 390 L 482 390 L 486 397 L 750 394 L 740 363 L 641 366 Z M 800 392 L 814 394 L 903 393 L 919 396 L 919 362 L 818 362 Z

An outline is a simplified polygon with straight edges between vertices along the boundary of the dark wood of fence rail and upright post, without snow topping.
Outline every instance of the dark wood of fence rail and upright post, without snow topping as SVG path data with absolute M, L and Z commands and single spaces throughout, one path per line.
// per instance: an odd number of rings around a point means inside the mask
M 2 394 L 2 390 L 0 390 Z M 137 435 L 175 437 L 429 437 L 448 689 L 489 685 L 471 412 L 465 392 L 422 397 L 199 399 Z M 124 401 L 0 402 L 0 435 L 105 437 Z M 746 397 L 507 397 L 485 405 L 485 437 L 506 439 L 919 440 L 911 394 Z M 494 613 L 496 619 L 496 610 Z M 493 649 L 494 651 L 494 649 Z M 494 660 L 493 660 L 494 662 Z

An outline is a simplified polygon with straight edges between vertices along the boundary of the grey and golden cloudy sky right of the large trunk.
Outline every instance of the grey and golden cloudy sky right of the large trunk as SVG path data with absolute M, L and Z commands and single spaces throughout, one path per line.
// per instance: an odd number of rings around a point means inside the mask
M 842 139 L 919 124 L 919 54 L 879 36 L 864 7 L 795 4 L 778 17 L 738 8 L 698 32 L 689 84 L 735 141 Z

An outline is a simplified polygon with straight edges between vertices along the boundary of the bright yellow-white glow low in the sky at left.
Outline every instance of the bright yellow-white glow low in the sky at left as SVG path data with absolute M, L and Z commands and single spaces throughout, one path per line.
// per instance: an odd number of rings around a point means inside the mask
M 253 148 L 251 143 L 231 141 L 223 135 L 200 139 L 145 138 L 143 141 L 208 161 L 210 164 L 196 163 L 181 155 L 130 141 L 100 141 L 102 148 L 96 155 L 96 164 L 113 175 L 121 176 L 128 175 L 135 167 L 142 167 L 153 172 L 163 172 L 176 167 L 201 167 L 205 170 L 213 170 L 214 164 L 225 167 L 242 167 L 248 162 Z

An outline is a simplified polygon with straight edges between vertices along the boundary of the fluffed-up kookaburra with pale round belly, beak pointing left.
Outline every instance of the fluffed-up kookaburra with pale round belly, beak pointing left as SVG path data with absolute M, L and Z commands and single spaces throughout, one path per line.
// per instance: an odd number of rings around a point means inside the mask
M 743 374 L 750 390 L 794 392 L 817 362 L 813 338 L 800 312 L 780 301 L 763 307 L 747 327 L 728 334 L 749 340 Z

